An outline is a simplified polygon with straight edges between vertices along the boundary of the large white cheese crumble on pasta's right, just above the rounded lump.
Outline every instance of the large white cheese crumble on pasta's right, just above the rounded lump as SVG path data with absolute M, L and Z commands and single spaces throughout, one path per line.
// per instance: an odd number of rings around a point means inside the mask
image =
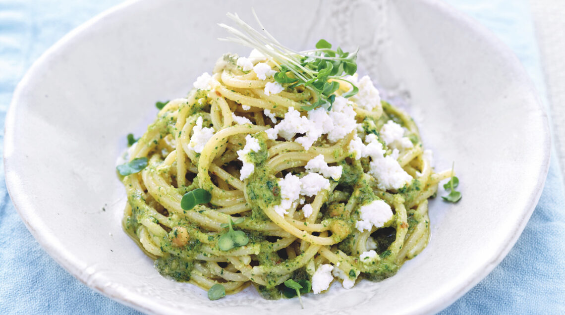
M 380 190 L 401 189 L 412 181 L 412 176 L 390 155 L 372 160 L 369 168 L 368 173 L 376 178 Z

